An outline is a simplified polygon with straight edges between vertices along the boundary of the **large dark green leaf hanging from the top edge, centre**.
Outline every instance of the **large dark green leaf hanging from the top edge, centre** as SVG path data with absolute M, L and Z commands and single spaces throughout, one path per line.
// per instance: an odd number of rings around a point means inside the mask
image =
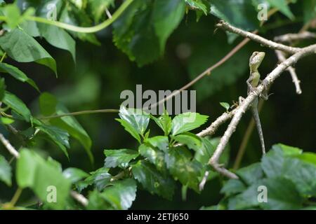
M 139 66 L 153 62 L 163 54 L 184 9 L 182 0 L 135 0 L 114 22 L 113 41 Z

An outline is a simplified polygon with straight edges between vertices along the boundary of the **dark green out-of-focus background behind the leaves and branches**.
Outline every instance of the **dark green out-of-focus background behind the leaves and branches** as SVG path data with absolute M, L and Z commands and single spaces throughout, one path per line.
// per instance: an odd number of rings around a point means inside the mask
M 226 10 L 237 10 L 235 14 L 228 12 L 227 15 L 235 16 L 235 18 L 229 18 L 230 20 L 239 21 L 239 16 L 242 18 L 245 16 L 240 8 L 234 6 L 237 2 L 239 1 L 231 0 L 231 8 L 226 8 Z M 281 34 L 298 32 L 304 24 L 303 1 L 291 4 L 290 8 L 295 18 L 289 20 L 282 13 L 272 15 L 261 28 L 260 34 L 265 38 L 273 39 Z M 113 28 L 110 27 L 99 31 L 96 38 L 87 35 L 88 37 L 85 38 L 90 42 L 76 41 L 75 63 L 69 52 L 53 48 L 44 39 L 37 38 L 37 41 L 56 60 L 58 78 L 55 78 L 51 70 L 38 64 L 21 64 L 11 59 L 7 59 L 6 63 L 18 66 L 37 83 L 41 92 L 54 94 L 70 111 L 118 109 L 119 104 L 123 101 L 119 98 L 121 91 L 132 90 L 134 92 L 137 84 L 143 85 L 143 91 L 177 90 L 206 68 L 218 62 L 237 43 L 242 41 L 242 38 L 232 38 L 225 32 L 216 30 L 214 25 L 218 18 L 201 16 L 197 22 L 197 15 L 199 16 L 199 13 L 196 13 L 195 10 L 188 10 L 178 28 L 166 41 L 166 48 L 162 56 L 143 66 L 130 61 L 129 57 L 114 45 Z M 96 17 L 97 21 L 102 20 L 97 15 Z M 253 27 L 251 25 L 250 28 L 255 27 L 256 25 Z M 311 30 L 315 31 L 315 28 L 316 26 L 311 26 Z M 228 43 L 228 39 L 230 43 Z M 300 44 L 308 45 L 310 43 L 312 41 L 304 41 Z M 266 76 L 278 63 L 275 52 L 263 48 L 258 43 L 250 42 L 228 62 L 213 71 L 210 76 L 202 78 L 190 88 L 190 90 L 197 91 L 197 112 L 210 117 L 208 124 L 225 111 L 219 102 L 232 104 L 232 101 L 237 101 L 239 96 L 246 95 L 245 80 L 249 76 L 249 57 L 255 50 L 266 52 L 260 67 L 261 74 Z M 154 52 L 148 50 L 146 53 L 150 57 Z M 303 148 L 305 151 L 316 151 L 315 59 L 315 56 L 307 57 L 296 64 L 302 94 L 296 94 L 291 76 L 287 72 L 272 85 L 270 92 L 274 94 L 268 102 L 265 102 L 261 111 L 266 148 L 281 142 Z M 34 114 L 39 113 L 37 104 L 39 92 L 10 77 L 6 78 L 6 85 L 32 109 Z M 77 116 L 77 120 L 88 132 L 93 142 L 92 152 L 95 158 L 93 165 L 84 148 L 75 139 L 70 141 L 70 161 L 60 150 L 56 150 L 57 146 L 47 141 L 39 139 L 35 146 L 41 148 L 39 151 L 42 154 L 50 155 L 55 160 L 62 162 L 65 167 L 78 167 L 86 172 L 94 171 L 98 167 L 103 167 L 104 149 L 136 147 L 136 141 L 114 120 L 117 117 L 116 113 Z M 230 140 L 231 165 L 235 161 L 237 150 L 250 119 L 250 114 L 244 116 Z M 208 124 L 202 128 L 207 127 Z M 19 129 L 22 130 L 23 127 L 19 127 Z M 150 130 L 152 135 L 160 134 L 154 125 L 150 126 Z M 220 127 L 216 137 L 223 134 L 224 130 L 225 125 Z M 17 139 L 13 137 L 11 141 L 15 142 Z M 246 147 L 241 167 L 260 160 L 259 144 L 257 133 L 253 133 Z M 0 151 L 3 155 L 7 155 L 2 146 Z M 180 184 L 173 201 L 164 200 L 162 197 L 150 195 L 147 191 L 138 189 L 136 201 L 133 202 L 131 209 L 199 209 L 204 205 L 216 204 L 223 196 L 219 193 L 222 181 L 220 177 L 209 181 L 201 194 L 188 190 L 186 201 L 181 199 Z M 0 189 L 1 195 L 7 195 L 8 200 L 13 195 L 12 188 L 5 188 L 4 183 L 0 183 Z

